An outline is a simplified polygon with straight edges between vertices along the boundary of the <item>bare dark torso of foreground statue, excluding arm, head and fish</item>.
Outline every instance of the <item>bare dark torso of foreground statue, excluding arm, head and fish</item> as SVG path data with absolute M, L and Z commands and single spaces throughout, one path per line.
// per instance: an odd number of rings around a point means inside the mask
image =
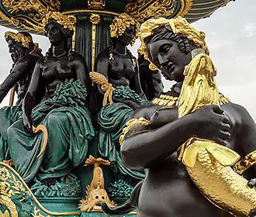
M 234 149 L 237 142 L 237 132 L 234 131 L 236 115 L 232 105 L 224 105 L 222 108 L 230 119 L 231 139 L 227 146 Z M 178 119 L 178 110 L 175 106 L 150 105 L 146 111 L 144 117 L 152 122 L 151 129 L 157 129 Z M 224 215 L 200 193 L 185 166 L 177 160 L 177 153 L 159 160 L 154 167 L 150 167 L 140 191 L 138 210 L 139 217 L 230 216 L 227 213 Z

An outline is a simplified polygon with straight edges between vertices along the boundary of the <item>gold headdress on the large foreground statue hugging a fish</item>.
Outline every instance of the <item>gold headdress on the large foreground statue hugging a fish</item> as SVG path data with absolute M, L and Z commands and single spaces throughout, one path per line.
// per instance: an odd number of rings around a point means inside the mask
M 173 33 L 175 34 L 181 34 L 183 36 L 186 36 L 188 40 L 205 50 L 206 54 L 209 54 L 208 47 L 206 45 L 205 41 L 205 33 L 201 31 L 197 31 L 193 26 L 189 24 L 189 22 L 186 21 L 186 19 L 182 18 L 181 16 L 178 16 L 175 19 L 165 19 L 165 18 L 159 18 L 159 19 L 148 19 L 146 22 L 144 22 L 140 27 L 140 53 L 144 54 L 144 57 L 148 59 L 147 55 L 147 46 L 145 43 L 145 39 L 151 35 L 154 34 L 154 31 L 161 26 L 170 26 Z M 156 69 L 157 67 L 154 64 L 150 64 L 150 69 Z

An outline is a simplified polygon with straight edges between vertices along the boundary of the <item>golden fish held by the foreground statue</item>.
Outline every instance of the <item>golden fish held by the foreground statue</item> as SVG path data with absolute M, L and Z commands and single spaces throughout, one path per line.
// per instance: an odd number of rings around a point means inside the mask
M 216 68 L 206 54 L 199 54 L 185 67 L 185 81 L 178 101 L 181 118 L 204 105 L 219 105 L 220 98 L 214 76 Z M 202 194 L 214 205 L 234 216 L 248 216 L 256 208 L 255 188 L 231 166 L 240 156 L 210 140 L 192 137 L 178 150 L 178 160 Z

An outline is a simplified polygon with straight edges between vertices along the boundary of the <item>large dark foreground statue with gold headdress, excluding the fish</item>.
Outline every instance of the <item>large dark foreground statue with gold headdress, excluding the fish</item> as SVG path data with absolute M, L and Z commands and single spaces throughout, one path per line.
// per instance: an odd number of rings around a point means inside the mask
M 227 98 L 223 98 L 225 103 L 220 108 L 207 105 L 178 119 L 176 102 L 185 66 L 192 60 L 195 48 L 206 53 L 208 48 L 200 41 L 195 43 L 186 27 L 184 32 L 174 33 L 175 26 L 169 23 L 168 19 L 150 19 L 143 24 L 140 36 L 150 62 L 176 84 L 133 113 L 121 145 L 123 164 L 132 169 L 144 168 L 146 177 L 133 191 L 130 202 L 116 210 L 105 207 L 106 212 L 124 213 L 137 207 L 140 217 L 230 216 L 201 194 L 177 159 L 176 151 L 195 136 L 213 140 L 245 156 L 255 150 L 256 126 L 245 108 L 228 102 Z M 255 167 L 243 175 L 253 188 Z M 254 216 L 254 211 L 250 216 Z

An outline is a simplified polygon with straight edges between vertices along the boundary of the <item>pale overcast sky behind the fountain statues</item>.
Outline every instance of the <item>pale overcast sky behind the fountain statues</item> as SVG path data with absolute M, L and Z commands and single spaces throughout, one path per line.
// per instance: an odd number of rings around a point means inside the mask
M 256 0 L 237 0 L 218 9 L 209 18 L 193 23 L 195 29 L 206 33 L 210 57 L 216 65 L 216 80 L 220 91 L 232 102 L 244 105 L 256 120 Z M 0 26 L 0 82 L 4 81 L 12 67 L 12 60 L 5 42 L 5 31 Z M 44 36 L 33 35 L 40 43 L 43 54 L 50 43 Z M 138 42 L 131 49 L 134 54 Z M 170 84 L 164 81 L 164 89 Z M 0 105 L 8 105 L 9 96 Z

